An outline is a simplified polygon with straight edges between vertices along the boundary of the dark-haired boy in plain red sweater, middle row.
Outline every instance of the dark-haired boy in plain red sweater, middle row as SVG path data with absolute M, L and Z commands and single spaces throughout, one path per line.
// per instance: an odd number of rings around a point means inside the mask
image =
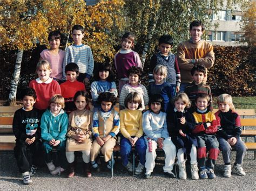
M 65 110 L 69 114 L 71 111 L 76 110 L 76 105 L 73 102 L 73 97 L 77 91 L 85 90 L 84 83 L 77 81 L 79 75 L 79 67 L 76 63 L 69 63 L 65 67 L 65 74 L 68 80 L 60 84 L 62 96 L 65 99 Z

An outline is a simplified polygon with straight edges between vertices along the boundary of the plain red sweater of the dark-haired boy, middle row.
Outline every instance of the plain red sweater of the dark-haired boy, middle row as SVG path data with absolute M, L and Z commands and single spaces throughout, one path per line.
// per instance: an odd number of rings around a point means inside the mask
M 85 90 L 85 86 L 82 82 L 70 82 L 67 80 L 60 84 L 60 89 L 62 90 L 62 96 L 64 98 L 73 98 L 77 91 Z

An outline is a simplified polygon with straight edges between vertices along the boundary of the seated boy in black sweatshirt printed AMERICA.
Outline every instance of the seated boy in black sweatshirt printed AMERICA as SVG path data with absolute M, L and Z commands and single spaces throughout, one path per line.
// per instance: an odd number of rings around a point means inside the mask
M 36 173 L 38 165 L 39 148 L 41 147 L 40 118 L 38 109 L 33 108 L 36 103 L 36 91 L 32 88 L 21 92 L 23 107 L 14 114 L 12 131 L 16 137 L 14 155 L 17 160 L 19 172 L 22 173 L 23 183 L 32 183 L 30 176 Z

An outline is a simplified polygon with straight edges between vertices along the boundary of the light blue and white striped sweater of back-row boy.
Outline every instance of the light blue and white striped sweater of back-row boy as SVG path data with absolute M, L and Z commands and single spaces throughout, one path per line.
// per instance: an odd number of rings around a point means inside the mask
M 94 68 L 93 55 L 90 46 L 87 45 L 71 45 L 66 49 L 63 61 L 63 75 L 65 75 L 65 66 L 74 62 L 79 67 L 80 73 L 85 73 L 90 78 Z

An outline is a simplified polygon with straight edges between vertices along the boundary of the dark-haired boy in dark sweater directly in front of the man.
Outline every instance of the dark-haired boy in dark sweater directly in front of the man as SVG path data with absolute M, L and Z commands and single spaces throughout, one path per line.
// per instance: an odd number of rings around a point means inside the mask
M 203 79 L 206 76 L 206 68 L 204 65 L 195 65 L 191 69 L 191 75 L 193 77 L 193 82 L 189 84 L 186 89 L 185 93 L 187 94 L 188 98 L 192 103 L 190 111 L 196 111 L 197 107 L 195 104 L 195 98 L 199 93 L 205 93 L 210 97 L 208 109 L 212 111 L 212 93 L 211 88 L 207 84 L 203 83 Z

